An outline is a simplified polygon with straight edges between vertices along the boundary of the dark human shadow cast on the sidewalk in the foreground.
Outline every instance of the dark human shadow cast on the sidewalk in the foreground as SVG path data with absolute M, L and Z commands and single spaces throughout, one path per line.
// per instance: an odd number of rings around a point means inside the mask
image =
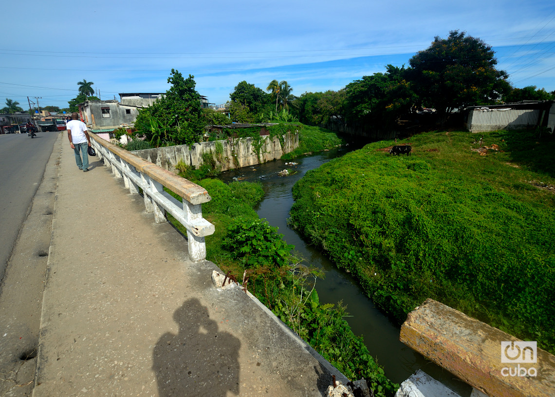
M 162 335 L 153 351 L 160 397 L 239 395 L 239 339 L 219 331 L 198 299 L 186 300 L 173 318 L 179 333 Z

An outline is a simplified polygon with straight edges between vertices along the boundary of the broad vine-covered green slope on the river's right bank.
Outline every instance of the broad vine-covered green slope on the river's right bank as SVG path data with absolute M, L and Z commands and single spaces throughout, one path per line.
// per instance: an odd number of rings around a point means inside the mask
M 308 172 L 290 223 L 399 323 L 433 298 L 555 352 L 553 135 L 410 139 L 411 156 L 376 142 Z M 478 138 L 479 139 L 479 138 Z

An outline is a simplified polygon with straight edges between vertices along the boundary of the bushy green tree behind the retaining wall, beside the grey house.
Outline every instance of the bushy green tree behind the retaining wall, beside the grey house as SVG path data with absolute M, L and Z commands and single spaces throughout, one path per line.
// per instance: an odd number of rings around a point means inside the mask
M 148 108 L 141 109 L 135 128 L 147 135 L 156 146 L 161 144 L 191 144 L 203 132 L 203 112 L 200 94 L 195 90 L 194 76 L 188 78 L 171 69 L 170 89 Z

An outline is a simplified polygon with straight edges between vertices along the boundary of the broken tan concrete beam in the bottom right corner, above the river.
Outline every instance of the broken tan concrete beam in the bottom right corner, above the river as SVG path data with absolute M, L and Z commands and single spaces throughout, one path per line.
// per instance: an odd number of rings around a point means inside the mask
M 504 352 L 501 343 L 519 339 L 438 301 L 427 299 L 409 313 L 400 339 L 490 397 L 555 396 L 555 356 L 527 348 L 524 361 L 535 362 L 518 362 L 522 345 Z M 502 362 L 502 354 L 511 362 Z

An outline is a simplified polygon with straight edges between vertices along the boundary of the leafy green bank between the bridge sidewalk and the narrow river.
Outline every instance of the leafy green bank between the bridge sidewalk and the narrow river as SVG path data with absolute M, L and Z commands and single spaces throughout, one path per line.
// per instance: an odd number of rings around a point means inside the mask
M 296 271 L 300 259 L 291 253 L 292 246 L 254 211 L 264 195 L 261 184 L 195 182 L 212 197 L 203 204 L 203 217 L 215 225 L 215 233 L 206 237 L 206 259 L 238 280 L 246 271 L 249 291 L 337 369 L 351 379 L 364 376 L 376 396 L 393 396 L 398 385 L 387 379 L 362 338 L 352 333 L 344 306 L 320 304 L 314 288 L 319 273 L 304 267 Z M 168 218 L 185 233 L 171 215 Z

